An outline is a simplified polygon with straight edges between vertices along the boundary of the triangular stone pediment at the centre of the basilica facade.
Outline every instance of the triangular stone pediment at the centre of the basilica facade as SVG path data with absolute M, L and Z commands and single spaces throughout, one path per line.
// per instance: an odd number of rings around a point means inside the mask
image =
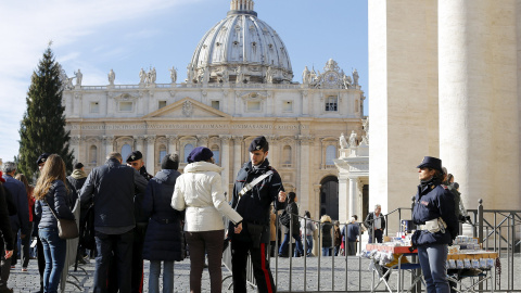
M 183 98 L 170 105 L 162 107 L 157 111 L 144 115 L 143 118 L 230 118 L 229 114 L 226 114 L 217 109 L 205 105 L 191 98 Z

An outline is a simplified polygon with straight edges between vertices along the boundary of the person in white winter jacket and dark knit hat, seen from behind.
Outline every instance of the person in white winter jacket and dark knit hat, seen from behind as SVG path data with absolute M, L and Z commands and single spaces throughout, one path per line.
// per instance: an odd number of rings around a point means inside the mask
M 204 252 L 208 254 L 211 292 L 223 290 L 223 258 L 225 225 L 223 215 L 242 230 L 242 217 L 228 204 L 214 153 L 198 146 L 188 156 L 185 174 L 177 178 L 171 207 L 185 211 L 185 237 L 190 250 L 190 292 L 201 292 Z

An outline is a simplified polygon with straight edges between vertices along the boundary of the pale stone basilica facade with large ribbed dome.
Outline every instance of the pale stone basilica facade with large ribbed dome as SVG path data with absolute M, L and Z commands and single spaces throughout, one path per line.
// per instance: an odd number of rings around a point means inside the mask
M 115 84 L 112 71 L 105 86 L 81 85 L 79 71 L 75 85 L 66 79 L 63 99 L 74 155 L 90 170 L 110 152 L 125 158 L 139 150 L 155 174 L 165 154 L 178 153 L 182 171 L 188 154 L 204 145 L 224 167 L 229 194 L 250 160 L 250 142 L 265 136 L 268 160 L 285 189 L 296 192 L 301 211 L 339 218 L 333 160 L 340 133 L 354 133 L 356 143 L 365 137 L 364 92 L 356 69 L 346 75 L 333 60 L 325 61 L 322 72 L 301 69 L 302 80 L 293 80 L 289 52 L 257 17 L 254 2 L 233 0 L 228 15 L 196 46 L 186 80 L 177 80 L 175 67 L 170 84 L 156 84 L 155 68 L 142 69 L 136 85 Z

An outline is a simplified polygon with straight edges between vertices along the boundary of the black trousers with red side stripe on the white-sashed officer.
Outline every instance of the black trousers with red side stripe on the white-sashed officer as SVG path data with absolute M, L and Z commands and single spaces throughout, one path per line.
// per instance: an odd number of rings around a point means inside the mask
M 253 275 L 257 282 L 257 291 L 266 293 L 277 292 L 274 277 L 269 269 L 267 250 L 267 243 L 260 243 L 259 247 L 253 247 L 252 242 L 239 240 L 231 241 L 231 266 L 234 293 L 246 292 L 246 264 L 249 252 L 252 257 Z

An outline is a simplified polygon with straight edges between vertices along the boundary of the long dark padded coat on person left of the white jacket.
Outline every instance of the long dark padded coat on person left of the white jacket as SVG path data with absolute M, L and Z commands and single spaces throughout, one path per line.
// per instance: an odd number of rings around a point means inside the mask
M 149 181 L 143 200 L 143 214 L 150 216 L 144 237 L 143 258 L 149 260 L 182 260 L 181 212 L 170 206 L 177 170 L 163 169 Z

